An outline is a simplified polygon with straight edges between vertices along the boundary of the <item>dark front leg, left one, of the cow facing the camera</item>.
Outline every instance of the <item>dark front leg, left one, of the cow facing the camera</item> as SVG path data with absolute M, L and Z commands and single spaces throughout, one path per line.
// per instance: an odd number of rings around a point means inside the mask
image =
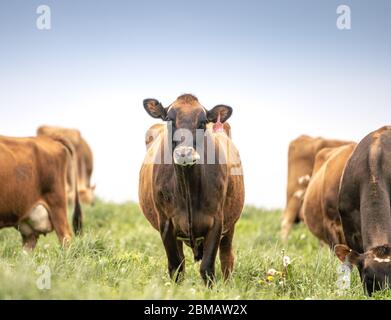
M 174 226 L 171 220 L 166 220 L 160 225 L 160 235 L 166 250 L 168 260 L 168 273 L 175 282 L 183 277 L 185 272 L 185 256 L 183 254 L 182 241 L 176 239 Z

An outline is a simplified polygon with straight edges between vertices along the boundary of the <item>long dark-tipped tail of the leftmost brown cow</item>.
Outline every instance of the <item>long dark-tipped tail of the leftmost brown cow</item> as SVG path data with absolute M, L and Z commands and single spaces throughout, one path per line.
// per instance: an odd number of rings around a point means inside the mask
M 50 137 L 65 146 L 65 148 L 67 149 L 67 151 L 70 154 L 71 161 L 73 161 L 74 156 L 76 156 L 76 150 L 75 150 L 72 142 L 69 139 L 62 137 L 60 135 L 53 134 L 53 135 L 50 135 Z M 82 229 L 83 229 L 83 213 L 81 210 L 80 199 L 79 199 L 79 188 L 77 186 L 77 180 L 78 180 L 77 163 L 75 164 L 74 169 L 75 169 L 74 170 L 75 204 L 74 204 L 73 215 L 72 215 L 72 225 L 73 225 L 73 232 L 76 235 L 80 235 L 82 233 Z

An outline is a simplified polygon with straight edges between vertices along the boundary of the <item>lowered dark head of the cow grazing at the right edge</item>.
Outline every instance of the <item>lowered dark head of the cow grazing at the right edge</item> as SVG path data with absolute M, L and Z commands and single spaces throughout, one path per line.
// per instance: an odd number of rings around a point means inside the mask
M 375 247 L 362 254 L 345 245 L 336 245 L 334 251 L 342 262 L 357 267 L 368 295 L 391 284 L 391 245 Z

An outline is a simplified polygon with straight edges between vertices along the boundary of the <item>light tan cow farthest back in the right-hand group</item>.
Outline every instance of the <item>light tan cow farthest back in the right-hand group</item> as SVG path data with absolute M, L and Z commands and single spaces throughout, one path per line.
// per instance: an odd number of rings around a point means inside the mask
M 316 154 L 323 148 L 334 148 L 349 143 L 352 142 L 302 135 L 289 144 L 287 197 L 281 222 L 281 237 L 284 241 L 288 239 L 292 225 L 302 218 L 300 208 L 311 179 Z

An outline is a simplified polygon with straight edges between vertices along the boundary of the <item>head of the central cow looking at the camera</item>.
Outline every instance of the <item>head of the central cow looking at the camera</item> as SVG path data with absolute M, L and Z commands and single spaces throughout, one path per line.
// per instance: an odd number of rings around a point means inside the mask
M 144 108 L 151 117 L 167 121 L 172 126 L 169 139 L 172 143 L 173 160 L 180 166 L 194 165 L 200 159 L 196 151 L 197 135 L 205 131 L 207 123 L 220 125 L 232 114 L 232 108 L 226 105 L 217 105 L 208 111 L 190 94 L 178 97 L 167 108 L 156 99 L 145 99 Z

